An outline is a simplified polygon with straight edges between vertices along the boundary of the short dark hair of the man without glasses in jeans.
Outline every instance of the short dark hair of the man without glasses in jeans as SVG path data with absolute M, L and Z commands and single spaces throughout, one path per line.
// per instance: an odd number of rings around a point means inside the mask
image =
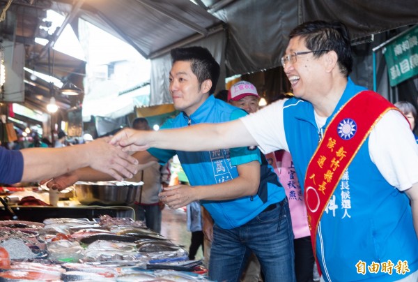
M 192 46 L 186 48 L 176 48 L 171 50 L 173 64 L 176 61 L 190 61 L 192 63 L 192 72 L 196 75 L 199 82 L 199 89 L 205 80 L 212 81 L 212 87 L 209 94 L 215 92 L 221 67 L 212 57 L 209 50 L 204 47 Z

